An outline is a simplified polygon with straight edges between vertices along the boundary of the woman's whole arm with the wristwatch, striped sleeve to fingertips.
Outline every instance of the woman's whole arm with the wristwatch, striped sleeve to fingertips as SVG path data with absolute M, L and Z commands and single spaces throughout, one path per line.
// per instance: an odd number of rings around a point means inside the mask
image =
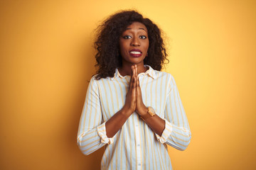
M 154 115 L 144 122 L 156 133 L 159 142 L 184 150 L 191 140 L 191 132 L 174 77 L 170 77 L 169 82 L 171 90 L 166 98 L 164 119 Z M 141 89 L 139 88 L 139 79 L 137 79 L 137 113 L 143 118 L 144 115 L 148 114 L 148 110 L 139 96 L 141 96 Z

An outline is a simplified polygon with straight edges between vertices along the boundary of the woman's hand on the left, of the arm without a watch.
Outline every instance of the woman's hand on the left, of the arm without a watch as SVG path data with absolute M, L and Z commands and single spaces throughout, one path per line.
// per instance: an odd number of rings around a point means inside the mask
M 134 113 L 136 109 L 136 74 L 135 74 L 135 67 L 132 66 L 132 77 L 129 82 L 129 90 L 127 92 L 127 96 L 125 99 L 124 107 L 122 108 L 124 110 L 124 113 L 128 113 L 131 115 Z

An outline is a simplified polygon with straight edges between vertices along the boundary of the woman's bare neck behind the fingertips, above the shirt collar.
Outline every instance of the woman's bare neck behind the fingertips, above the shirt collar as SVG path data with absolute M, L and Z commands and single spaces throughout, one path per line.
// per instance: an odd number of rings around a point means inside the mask
M 132 65 L 134 65 L 134 64 L 132 64 L 132 63 L 131 64 L 122 64 L 122 67 L 120 67 L 118 69 L 119 74 L 121 74 L 123 77 L 127 76 L 127 75 L 132 76 Z M 137 68 L 138 68 L 138 74 L 142 73 L 142 72 L 146 72 L 146 70 L 148 69 L 148 68 L 144 67 L 143 62 L 137 64 Z

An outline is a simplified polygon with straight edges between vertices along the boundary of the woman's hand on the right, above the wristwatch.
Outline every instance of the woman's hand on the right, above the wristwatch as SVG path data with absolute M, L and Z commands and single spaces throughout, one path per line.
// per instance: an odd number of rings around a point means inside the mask
M 144 105 L 143 100 L 142 100 L 142 89 L 139 86 L 137 65 L 135 64 L 134 67 L 135 67 L 135 75 L 136 75 L 136 108 L 135 108 L 135 111 L 139 115 L 144 115 L 147 113 L 148 108 L 146 108 L 146 106 Z

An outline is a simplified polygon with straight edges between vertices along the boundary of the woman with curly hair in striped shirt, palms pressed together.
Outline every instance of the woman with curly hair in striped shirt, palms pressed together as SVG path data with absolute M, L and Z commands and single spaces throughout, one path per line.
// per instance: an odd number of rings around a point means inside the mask
M 184 150 L 191 132 L 159 28 L 136 11 L 115 13 L 98 28 L 97 75 L 87 89 L 78 146 L 105 146 L 101 169 L 172 169 L 167 145 Z

